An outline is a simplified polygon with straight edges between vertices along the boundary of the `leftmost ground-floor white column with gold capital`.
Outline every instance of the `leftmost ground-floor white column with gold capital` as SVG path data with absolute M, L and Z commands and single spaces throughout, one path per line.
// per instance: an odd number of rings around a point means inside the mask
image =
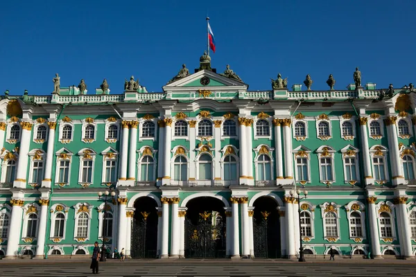
M 6 258 L 13 258 L 17 256 L 21 233 L 21 216 L 23 214 L 23 208 L 21 207 L 24 205 L 24 201 L 19 199 L 12 199 L 10 202 L 13 208 L 9 222 Z

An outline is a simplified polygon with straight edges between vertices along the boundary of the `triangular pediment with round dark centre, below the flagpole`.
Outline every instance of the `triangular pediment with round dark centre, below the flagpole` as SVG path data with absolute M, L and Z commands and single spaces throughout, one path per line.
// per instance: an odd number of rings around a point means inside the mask
M 248 84 L 227 78 L 209 70 L 201 70 L 163 87 L 164 91 L 195 91 L 196 89 L 211 90 L 248 89 Z

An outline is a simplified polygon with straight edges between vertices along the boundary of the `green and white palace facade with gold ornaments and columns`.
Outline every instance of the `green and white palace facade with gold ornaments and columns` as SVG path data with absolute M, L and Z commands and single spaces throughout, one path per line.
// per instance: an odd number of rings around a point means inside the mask
M 1 256 L 415 257 L 413 86 L 250 91 L 202 60 L 160 93 L 2 96 Z

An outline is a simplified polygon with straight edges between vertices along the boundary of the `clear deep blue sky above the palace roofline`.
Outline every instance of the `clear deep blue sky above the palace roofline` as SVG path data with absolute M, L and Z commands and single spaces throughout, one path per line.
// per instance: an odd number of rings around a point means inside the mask
M 18 3 L 19 2 L 19 3 Z M 62 2 L 62 3 L 61 3 Z M 89 93 L 107 78 L 112 93 L 139 78 L 148 91 L 193 72 L 207 44 L 207 11 L 216 38 L 212 66 L 230 64 L 250 90 L 269 90 L 277 73 L 288 87 L 336 89 L 352 83 L 416 83 L 416 1 L 1 1 L 0 92 L 49 94 L 85 79 Z M 303 87 L 304 88 L 304 87 Z

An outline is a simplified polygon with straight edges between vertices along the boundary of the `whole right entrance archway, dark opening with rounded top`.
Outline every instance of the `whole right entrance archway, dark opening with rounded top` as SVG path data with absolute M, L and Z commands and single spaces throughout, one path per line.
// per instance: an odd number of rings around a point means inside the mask
M 255 258 L 280 257 L 280 225 L 277 202 L 262 196 L 254 201 L 253 240 Z

